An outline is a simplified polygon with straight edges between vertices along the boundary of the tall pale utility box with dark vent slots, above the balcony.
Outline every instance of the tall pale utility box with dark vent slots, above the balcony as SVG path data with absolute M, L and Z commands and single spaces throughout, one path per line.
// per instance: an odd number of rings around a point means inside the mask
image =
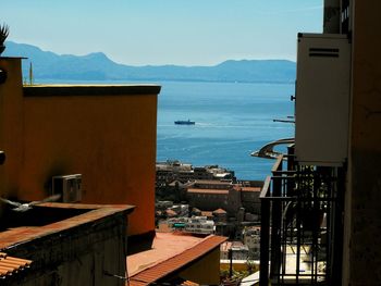
M 342 165 L 348 152 L 351 41 L 346 35 L 299 34 L 295 156 L 304 165 Z

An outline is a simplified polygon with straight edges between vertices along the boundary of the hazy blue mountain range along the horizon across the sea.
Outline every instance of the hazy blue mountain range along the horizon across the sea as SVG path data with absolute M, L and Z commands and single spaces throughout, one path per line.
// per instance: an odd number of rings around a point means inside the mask
M 214 66 L 119 64 L 102 52 L 87 55 L 57 54 L 38 47 L 5 42 L 4 57 L 25 57 L 24 75 L 33 63 L 35 79 L 60 80 L 200 80 L 243 83 L 293 83 L 295 62 L 286 60 L 225 61 Z

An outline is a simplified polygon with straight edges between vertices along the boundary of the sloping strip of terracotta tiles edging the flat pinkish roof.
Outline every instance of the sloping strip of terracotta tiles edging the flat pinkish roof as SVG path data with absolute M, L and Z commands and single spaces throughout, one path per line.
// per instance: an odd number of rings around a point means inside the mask
M 195 245 L 182 253 L 172 257 L 161 263 L 158 263 L 151 268 L 148 268 L 130 277 L 131 286 L 148 285 L 164 276 L 180 270 L 181 268 L 192 263 L 198 258 L 207 254 L 214 248 L 219 247 L 228 238 L 222 236 L 210 235 L 202 239 L 199 244 Z

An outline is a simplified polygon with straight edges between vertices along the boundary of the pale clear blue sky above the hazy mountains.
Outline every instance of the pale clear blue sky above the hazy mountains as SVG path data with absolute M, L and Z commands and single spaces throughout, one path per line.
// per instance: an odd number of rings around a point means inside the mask
M 295 61 L 298 32 L 322 32 L 323 0 L 12 0 L 9 40 L 56 53 L 105 52 L 115 62 L 213 65 Z

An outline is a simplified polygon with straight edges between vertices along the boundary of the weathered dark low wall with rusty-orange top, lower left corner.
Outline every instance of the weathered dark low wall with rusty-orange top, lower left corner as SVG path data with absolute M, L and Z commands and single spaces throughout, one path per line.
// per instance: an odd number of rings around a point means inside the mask
M 57 209 L 85 212 L 64 220 L 57 215 L 57 222 L 48 225 L 1 232 L 0 249 L 33 261 L 26 271 L 7 276 L 1 285 L 124 285 L 112 275 L 126 272 L 126 215 L 134 207 L 46 203 L 28 212 L 37 209 L 44 209 L 45 216 Z

